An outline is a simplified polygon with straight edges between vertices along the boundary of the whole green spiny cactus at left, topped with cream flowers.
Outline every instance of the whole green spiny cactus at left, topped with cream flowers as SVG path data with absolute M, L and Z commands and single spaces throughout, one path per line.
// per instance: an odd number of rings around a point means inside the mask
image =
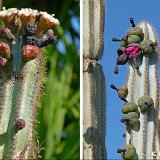
M 36 159 L 37 104 L 45 78 L 44 49 L 59 21 L 46 12 L 0 12 L 0 159 Z M 38 156 L 37 156 L 38 157 Z

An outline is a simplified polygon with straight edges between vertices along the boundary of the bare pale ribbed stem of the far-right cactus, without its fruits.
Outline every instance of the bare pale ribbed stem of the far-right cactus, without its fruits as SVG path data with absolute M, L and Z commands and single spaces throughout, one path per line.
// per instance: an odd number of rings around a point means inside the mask
M 144 32 L 144 40 L 157 42 L 158 38 L 152 25 L 147 21 L 138 24 Z M 158 85 L 158 47 L 154 52 L 137 58 L 139 71 L 129 65 L 128 101 L 138 104 L 142 96 L 150 96 L 154 108 L 140 114 L 140 125 L 129 133 L 126 131 L 126 143 L 133 144 L 137 151 L 136 159 L 159 159 L 159 85 Z

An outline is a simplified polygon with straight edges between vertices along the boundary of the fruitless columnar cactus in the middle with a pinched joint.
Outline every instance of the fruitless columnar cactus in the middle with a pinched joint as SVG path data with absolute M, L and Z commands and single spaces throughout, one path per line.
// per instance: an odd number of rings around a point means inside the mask
M 103 53 L 104 1 L 83 0 L 83 159 L 106 159 L 105 79 L 98 60 Z

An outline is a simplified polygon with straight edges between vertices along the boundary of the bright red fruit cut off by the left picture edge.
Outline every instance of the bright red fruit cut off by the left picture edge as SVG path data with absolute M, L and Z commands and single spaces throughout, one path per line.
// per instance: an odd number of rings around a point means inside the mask
M 2 58 L 10 59 L 11 50 L 7 43 L 0 42 L 0 56 Z

